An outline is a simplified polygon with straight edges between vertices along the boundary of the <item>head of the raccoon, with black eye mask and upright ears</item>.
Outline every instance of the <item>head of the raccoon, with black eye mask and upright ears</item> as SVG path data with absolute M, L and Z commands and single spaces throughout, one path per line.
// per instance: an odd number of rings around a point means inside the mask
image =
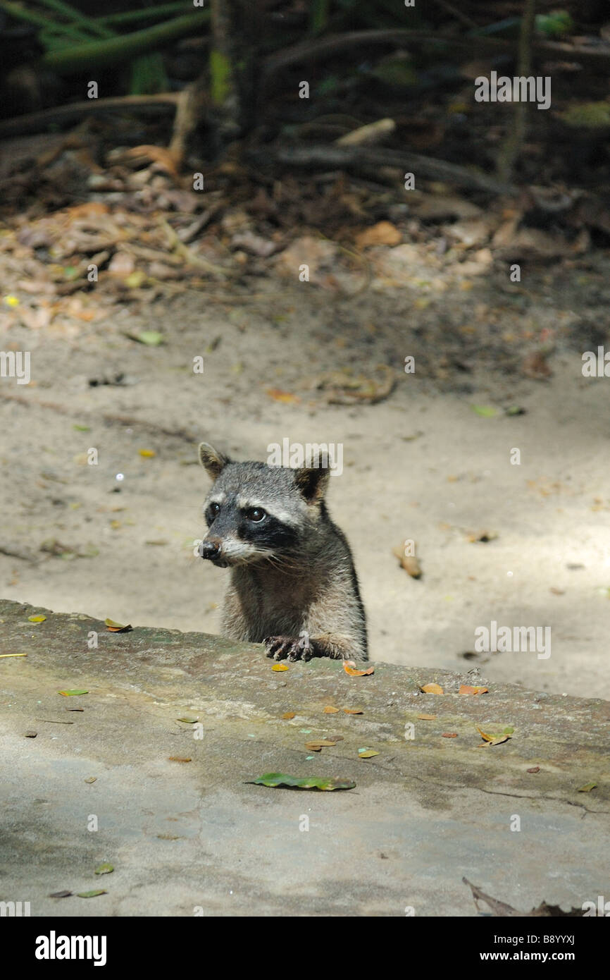
M 328 467 L 234 463 L 206 442 L 199 460 L 213 480 L 199 554 L 220 567 L 288 556 L 320 519 Z

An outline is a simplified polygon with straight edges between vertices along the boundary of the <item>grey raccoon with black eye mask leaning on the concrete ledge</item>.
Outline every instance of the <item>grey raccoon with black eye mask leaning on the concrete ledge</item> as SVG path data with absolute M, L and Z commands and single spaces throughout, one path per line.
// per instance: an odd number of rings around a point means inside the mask
M 352 551 L 324 500 L 328 466 L 234 463 L 208 443 L 199 460 L 213 480 L 199 554 L 231 568 L 223 635 L 276 661 L 368 660 Z

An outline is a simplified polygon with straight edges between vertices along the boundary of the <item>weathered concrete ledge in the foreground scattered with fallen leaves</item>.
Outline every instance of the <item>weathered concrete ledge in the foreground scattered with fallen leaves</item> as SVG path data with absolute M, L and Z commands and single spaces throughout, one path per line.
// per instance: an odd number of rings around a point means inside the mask
M 11 602 L 0 619 L 0 653 L 27 654 L 0 660 L 0 900 L 32 915 L 475 915 L 463 876 L 526 913 L 608 891 L 607 702 L 511 685 L 458 695 L 465 675 L 387 663 L 369 677 L 324 660 L 278 673 L 257 645 L 109 633 Z M 418 694 L 432 681 L 446 695 Z M 89 693 L 58 693 L 74 688 Z M 481 749 L 477 726 L 514 734 Z M 305 750 L 332 734 L 343 741 Z M 379 755 L 359 759 L 364 747 Z M 356 787 L 246 783 L 264 772 Z M 115 871 L 100 878 L 102 861 Z M 94 888 L 108 894 L 48 898 Z

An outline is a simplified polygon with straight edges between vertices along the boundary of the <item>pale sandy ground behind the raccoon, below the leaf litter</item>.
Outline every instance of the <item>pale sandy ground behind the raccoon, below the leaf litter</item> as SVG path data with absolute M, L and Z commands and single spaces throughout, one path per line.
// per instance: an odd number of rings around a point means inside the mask
M 382 309 L 374 296 L 337 302 L 310 286 L 272 287 L 258 304 L 185 293 L 125 308 L 68 338 L 14 331 L 11 341 L 31 351 L 32 383 L 1 381 L 2 596 L 217 632 L 228 572 L 193 554 L 207 487 L 197 442 L 238 459 L 264 459 L 284 438 L 342 443 L 329 508 L 352 542 L 372 660 L 429 665 L 431 678 L 434 667 L 468 664 L 490 681 L 610 697 L 610 381 L 584 378 L 580 352 L 559 345 L 547 381 L 491 364 L 442 390 L 401 369 L 417 337 L 404 297 L 390 316 L 386 298 Z M 557 312 L 547 304 L 543 316 L 552 322 Z M 167 343 L 135 344 L 122 331 L 136 328 L 161 329 Z M 203 374 L 193 372 L 198 355 Z M 327 405 L 305 390 L 321 370 L 367 373 L 380 362 L 398 380 L 376 405 Z M 89 384 L 117 374 L 127 383 Z M 275 401 L 269 387 L 299 400 Z M 526 414 L 504 415 L 512 404 Z M 482 417 L 473 405 L 498 414 Z M 84 461 L 90 447 L 97 466 Z M 497 537 L 469 540 L 481 532 Z M 407 538 L 417 542 L 419 580 L 392 555 Z M 550 627 L 551 656 L 465 659 L 475 630 L 492 620 Z

